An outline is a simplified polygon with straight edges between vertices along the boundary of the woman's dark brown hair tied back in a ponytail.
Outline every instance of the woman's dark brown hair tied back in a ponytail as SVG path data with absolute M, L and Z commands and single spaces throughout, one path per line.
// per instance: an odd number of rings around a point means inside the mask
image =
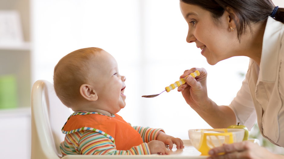
M 251 29 L 252 23 L 263 22 L 271 15 L 275 5 L 271 0 L 180 0 L 181 2 L 198 5 L 199 7 L 210 11 L 212 17 L 218 19 L 228 11 L 228 8 L 234 10 L 239 18 L 237 23 L 234 16 L 238 38 L 247 31 L 247 27 Z M 229 14 L 231 14 L 228 11 Z M 284 23 L 284 8 L 278 8 L 275 19 Z

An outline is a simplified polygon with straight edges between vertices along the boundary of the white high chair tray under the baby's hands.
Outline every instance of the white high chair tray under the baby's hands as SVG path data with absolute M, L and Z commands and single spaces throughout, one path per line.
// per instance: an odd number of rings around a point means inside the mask
M 182 140 L 184 144 L 184 148 L 176 149 L 175 145 L 173 149 L 170 150 L 169 155 L 158 155 L 158 154 L 150 154 L 150 155 L 67 155 L 62 157 L 61 159 L 124 159 L 124 158 L 134 158 L 134 159 L 146 159 L 146 158 L 167 158 L 167 159 L 205 159 L 208 156 L 200 156 L 201 153 L 197 151 L 189 140 Z

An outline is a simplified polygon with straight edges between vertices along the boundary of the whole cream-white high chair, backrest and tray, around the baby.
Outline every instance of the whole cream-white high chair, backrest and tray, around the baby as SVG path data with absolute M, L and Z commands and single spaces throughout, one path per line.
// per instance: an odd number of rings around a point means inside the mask
M 46 80 L 34 83 L 31 92 L 31 159 L 204 159 L 189 142 L 183 140 L 185 148 L 170 152 L 171 155 L 66 155 L 62 157 L 59 144 L 65 135 L 61 128 L 71 111 L 56 96 L 53 84 Z

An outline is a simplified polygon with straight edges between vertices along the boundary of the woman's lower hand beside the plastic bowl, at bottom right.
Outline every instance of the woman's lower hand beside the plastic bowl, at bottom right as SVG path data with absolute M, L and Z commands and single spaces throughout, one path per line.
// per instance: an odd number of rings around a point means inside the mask
M 225 154 L 218 155 L 218 153 L 225 152 Z M 260 147 L 249 141 L 224 144 L 221 147 L 213 148 L 209 152 L 210 157 L 208 159 L 237 159 L 237 158 L 247 158 L 247 159 L 284 159 L 284 156 L 272 154 L 265 148 Z

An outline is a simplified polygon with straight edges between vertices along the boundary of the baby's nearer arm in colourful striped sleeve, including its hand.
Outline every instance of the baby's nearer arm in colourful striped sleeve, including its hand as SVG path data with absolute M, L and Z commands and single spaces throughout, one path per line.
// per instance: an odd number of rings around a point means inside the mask
M 111 139 L 94 131 L 80 131 L 66 135 L 64 142 L 60 144 L 60 150 L 64 156 L 67 154 L 169 154 L 164 143 L 157 140 L 144 142 L 129 150 L 117 150 Z

